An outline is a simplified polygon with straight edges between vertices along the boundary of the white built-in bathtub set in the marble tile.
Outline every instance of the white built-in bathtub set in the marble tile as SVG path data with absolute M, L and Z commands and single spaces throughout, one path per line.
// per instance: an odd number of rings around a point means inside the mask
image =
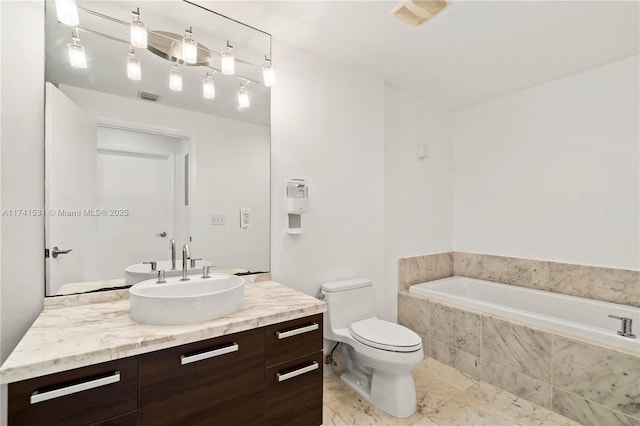
M 409 292 L 606 346 L 640 352 L 640 308 L 633 306 L 466 277 L 416 284 Z M 636 338 L 619 336 L 620 320 L 608 315 L 632 318 Z

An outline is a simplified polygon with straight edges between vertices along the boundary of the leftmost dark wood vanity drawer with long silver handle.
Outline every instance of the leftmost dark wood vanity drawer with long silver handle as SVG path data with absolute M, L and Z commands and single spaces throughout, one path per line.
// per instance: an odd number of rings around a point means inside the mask
M 86 425 L 137 408 L 136 357 L 8 385 L 8 423 Z

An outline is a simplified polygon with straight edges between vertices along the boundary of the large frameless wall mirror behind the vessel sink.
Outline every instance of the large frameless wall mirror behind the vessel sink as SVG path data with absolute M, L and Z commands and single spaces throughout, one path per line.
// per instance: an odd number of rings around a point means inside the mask
M 268 271 L 271 36 L 186 1 L 78 0 L 77 23 L 64 3 L 46 2 L 46 295 L 177 275 L 185 244 L 190 273 Z

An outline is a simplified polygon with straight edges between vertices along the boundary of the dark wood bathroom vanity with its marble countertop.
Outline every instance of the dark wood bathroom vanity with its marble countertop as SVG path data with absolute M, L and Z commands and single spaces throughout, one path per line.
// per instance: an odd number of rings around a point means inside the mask
M 324 302 L 266 281 L 197 324 L 140 324 L 127 307 L 45 309 L 0 369 L 10 426 L 322 423 Z

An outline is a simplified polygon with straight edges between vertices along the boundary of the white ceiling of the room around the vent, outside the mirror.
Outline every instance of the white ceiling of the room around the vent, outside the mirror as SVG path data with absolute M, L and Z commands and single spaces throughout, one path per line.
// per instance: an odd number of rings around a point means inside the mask
M 395 1 L 197 1 L 458 110 L 637 55 L 637 1 L 456 1 L 420 27 Z M 274 58 L 277 69 L 278 58 Z

